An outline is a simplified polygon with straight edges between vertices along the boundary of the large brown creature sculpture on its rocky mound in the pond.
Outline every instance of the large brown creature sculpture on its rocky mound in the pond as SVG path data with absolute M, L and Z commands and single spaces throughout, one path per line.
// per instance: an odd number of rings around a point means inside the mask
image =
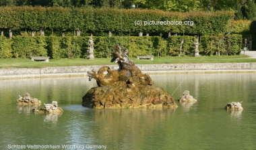
M 155 87 L 152 78 L 143 74 L 128 58 L 128 50 L 116 45 L 111 62 L 119 64 L 118 70 L 103 66 L 88 72 L 98 87 L 88 90 L 82 105 L 90 108 L 142 108 L 177 107 L 173 98 L 163 89 Z M 106 74 L 104 74 L 106 72 Z

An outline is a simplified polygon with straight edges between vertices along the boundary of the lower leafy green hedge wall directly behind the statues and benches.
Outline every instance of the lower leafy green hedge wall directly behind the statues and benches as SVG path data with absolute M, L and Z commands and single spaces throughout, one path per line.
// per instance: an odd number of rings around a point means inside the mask
M 0 36 L 0 58 L 29 58 L 30 56 L 51 56 L 51 58 L 86 58 L 90 37 L 29 37 L 15 36 L 11 40 Z M 235 55 L 242 48 L 242 35 L 201 36 L 201 55 Z M 93 37 L 94 57 L 112 57 L 113 46 L 120 44 L 129 49 L 131 57 L 137 55 L 193 56 L 195 36 L 171 36 L 164 40 L 160 36 L 151 37 Z M 181 45 L 181 40 L 184 43 Z

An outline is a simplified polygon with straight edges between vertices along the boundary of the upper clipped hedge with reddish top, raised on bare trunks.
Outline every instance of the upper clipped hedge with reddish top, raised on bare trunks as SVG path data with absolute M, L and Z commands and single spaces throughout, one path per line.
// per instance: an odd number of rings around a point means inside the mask
M 148 9 L 0 7 L 0 29 L 212 34 L 228 32 L 232 17 L 232 11 L 178 13 Z

